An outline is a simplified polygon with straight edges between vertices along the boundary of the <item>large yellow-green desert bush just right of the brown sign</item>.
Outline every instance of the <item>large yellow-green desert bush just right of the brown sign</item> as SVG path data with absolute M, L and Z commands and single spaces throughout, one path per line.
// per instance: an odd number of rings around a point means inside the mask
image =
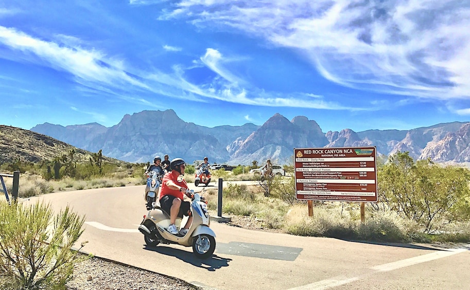
M 469 182 L 466 168 L 442 167 L 429 160 L 414 162 L 408 152 L 398 152 L 378 172 L 377 184 L 382 202 L 431 233 L 449 219 L 470 218 Z

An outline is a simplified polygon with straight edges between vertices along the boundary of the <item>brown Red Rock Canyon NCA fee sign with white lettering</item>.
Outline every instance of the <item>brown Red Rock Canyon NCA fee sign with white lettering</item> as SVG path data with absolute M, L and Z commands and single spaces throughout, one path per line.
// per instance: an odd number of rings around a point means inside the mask
M 299 200 L 377 202 L 375 147 L 295 148 Z

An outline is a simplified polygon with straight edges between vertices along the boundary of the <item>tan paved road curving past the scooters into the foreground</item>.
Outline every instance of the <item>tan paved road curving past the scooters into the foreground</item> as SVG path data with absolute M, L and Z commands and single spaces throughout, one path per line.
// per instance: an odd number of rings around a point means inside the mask
M 468 289 L 468 247 L 381 245 L 298 237 L 212 222 L 214 256 L 192 248 L 147 248 L 137 231 L 144 186 L 56 192 L 31 198 L 86 216 L 85 252 L 183 279 L 206 289 Z M 216 215 L 216 212 L 213 212 Z M 151 281 L 151 277 L 149 277 Z

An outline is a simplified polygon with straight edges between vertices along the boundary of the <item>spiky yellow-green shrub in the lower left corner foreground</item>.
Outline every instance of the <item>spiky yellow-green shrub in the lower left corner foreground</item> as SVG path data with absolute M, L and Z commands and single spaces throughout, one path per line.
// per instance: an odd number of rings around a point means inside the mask
M 64 289 L 81 261 L 71 248 L 83 233 L 84 218 L 68 206 L 54 216 L 49 204 L 0 202 L 0 220 L 1 286 Z

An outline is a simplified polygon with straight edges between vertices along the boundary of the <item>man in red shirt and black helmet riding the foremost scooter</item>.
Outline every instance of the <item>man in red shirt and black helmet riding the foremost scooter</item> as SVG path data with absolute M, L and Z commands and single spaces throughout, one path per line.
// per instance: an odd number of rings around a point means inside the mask
M 160 206 L 163 210 L 170 214 L 170 225 L 168 231 L 176 235 L 178 230 L 175 222 L 176 218 L 188 216 L 188 221 L 180 230 L 181 235 L 186 235 L 189 226 L 193 222 L 193 217 L 190 216 L 190 203 L 183 201 L 183 192 L 188 189 L 186 181 L 182 178 L 184 175 L 185 163 L 181 158 L 175 158 L 170 162 L 171 171 L 165 173 L 162 180 L 162 187 L 160 188 L 159 200 Z

